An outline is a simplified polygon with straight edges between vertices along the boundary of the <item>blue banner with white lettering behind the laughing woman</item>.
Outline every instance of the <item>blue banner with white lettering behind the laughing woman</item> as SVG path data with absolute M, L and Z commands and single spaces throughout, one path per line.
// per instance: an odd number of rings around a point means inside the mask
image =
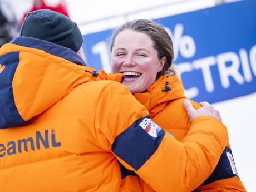
M 217 102 L 256 91 L 256 2 L 223 4 L 156 19 L 174 44 L 174 63 L 185 95 Z M 106 38 L 111 30 L 83 36 L 88 65 L 111 71 Z

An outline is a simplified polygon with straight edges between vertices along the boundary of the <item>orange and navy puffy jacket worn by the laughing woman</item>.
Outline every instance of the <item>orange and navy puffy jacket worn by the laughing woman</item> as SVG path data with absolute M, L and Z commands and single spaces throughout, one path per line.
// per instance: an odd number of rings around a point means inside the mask
M 166 87 L 169 88 L 166 89 Z M 157 125 L 174 135 L 179 141 L 186 139 L 185 136 L 188 134 L 191 124 L 183 107 L 183 100 L 185 99 L 184 88 L 177 76 L 161 76 L 154 84 L 147 88 L 145 93 L 135 93 L 134 96 L 147 108 L 151 119 Z M 200 107 L 196 102 L 191 102 L 195 109 Z M 198 174 L 200 175 L 199 171 Z M 171 177 L 172 175 L 165 176 Z M 179 177 L 179 174 L 173 176 Z M 122 182 L 128 184 L 129 180 L 132 179 L 127 178 L 127 181 L 124 180 Z M 201 183 L 203 181 L 201 180 Z M 178 182 L 180 185 L 186 185 L 183 178 L 180 178 Z M 143 186 L 144 191 L 154 191 L 145 183 L 140 185 Z M 225 148 L 213 173 L 196 191 L 245 191 L 242 182 L 238 178 L 229 145 Z

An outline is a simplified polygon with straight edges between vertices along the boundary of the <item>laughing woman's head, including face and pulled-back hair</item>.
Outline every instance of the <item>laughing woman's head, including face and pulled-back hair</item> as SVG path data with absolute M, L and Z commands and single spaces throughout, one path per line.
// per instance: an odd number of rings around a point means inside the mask
M 146 91 L 156 78 L 168 71 L 174 57 L 168 33 L 146 21 L 127 22 L 111 38 L 112 72 L 124 73 L 124 85 L 132 93 Z M 174 75 L 173 67 L 170 70 Z

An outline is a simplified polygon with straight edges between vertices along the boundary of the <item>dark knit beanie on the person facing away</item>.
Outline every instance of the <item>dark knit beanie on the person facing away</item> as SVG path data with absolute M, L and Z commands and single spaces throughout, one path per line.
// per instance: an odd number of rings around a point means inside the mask
M 77 52 L 83 43 L 77 24 L 61 13 L 42 9 L 27 14 L 21 36 L 50 41 Z

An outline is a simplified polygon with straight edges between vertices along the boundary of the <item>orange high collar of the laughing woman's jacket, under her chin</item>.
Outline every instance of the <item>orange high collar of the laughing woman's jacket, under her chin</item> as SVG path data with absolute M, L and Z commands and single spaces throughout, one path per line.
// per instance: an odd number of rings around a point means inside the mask
M 168 102 L 185 98 L 184 88 L 178 76 L 160 76 L 144 93 L 135 93 L 137 100 L 144 105 L 154 117 L 162 111 Z

